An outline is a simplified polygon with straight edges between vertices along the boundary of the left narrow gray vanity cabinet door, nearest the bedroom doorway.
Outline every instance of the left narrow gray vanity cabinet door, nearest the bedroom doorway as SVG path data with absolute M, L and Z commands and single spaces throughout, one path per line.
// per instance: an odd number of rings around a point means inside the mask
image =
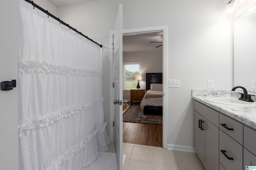
M 202 115 L 193 110 L 194 113 L 194 149 L 196 154 L 200 158 L 201 162 L 203 162 L 203 147 L 204 147 L 204 131 L 200 128 L 200 120 L 203 121 Z

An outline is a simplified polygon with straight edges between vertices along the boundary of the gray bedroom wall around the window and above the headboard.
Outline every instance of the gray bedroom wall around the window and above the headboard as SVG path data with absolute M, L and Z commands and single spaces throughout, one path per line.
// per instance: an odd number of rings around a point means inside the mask
M 162 55 L 162 50 L 123 53 L 123 62 L 140 61 L 140 74 L 142 75 L 140 89 L 146 89 L 147 72 L 162 72 Z M 123 90 L 123 99 L 130 100 L 130 90 Z

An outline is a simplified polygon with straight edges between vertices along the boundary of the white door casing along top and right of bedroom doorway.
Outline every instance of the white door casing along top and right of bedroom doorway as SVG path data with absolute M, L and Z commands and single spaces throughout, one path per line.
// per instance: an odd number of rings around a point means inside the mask
M 162 147 L 167 149 L 167 129 L 168 129 L 168 70 L 167 70 L 167 26 L 159 26 L 159 27 L 146 27 L 146 28 L 138 28 L 138 29 L 124 29 L 123 37 L 128 35 L 145 35 L 150 33 L 162 33 L 162 79 L 163 79 L 163 115 L 162 115 Z M 154 47 L 158 47 L 161 43 L 152 43 Z M 125 99 L 125 98 L 124 98 Z M 130 126 L 130 125 L 127 125 Z M 146 127 L 145 127 L 146 128 Z M 155 127 L 154 127 L 155 128 Z M 134 127 L 137 129 L 137 127 Z M 156 128 L 157 129 L 157 128 Z M 159 127 L 158 127 L 159 130 Z

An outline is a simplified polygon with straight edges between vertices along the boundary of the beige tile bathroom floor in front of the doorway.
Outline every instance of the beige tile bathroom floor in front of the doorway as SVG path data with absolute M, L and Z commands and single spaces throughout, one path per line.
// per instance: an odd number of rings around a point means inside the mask
M 114 143 L 108 152 L 115 152 Z M 123 143 L 123 170 L 205 170 L 196 153 Z

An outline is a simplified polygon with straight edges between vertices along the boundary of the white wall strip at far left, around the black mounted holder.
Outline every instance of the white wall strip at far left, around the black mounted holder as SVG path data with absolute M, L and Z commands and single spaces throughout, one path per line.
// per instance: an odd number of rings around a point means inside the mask
M 17 80 L 0 90 L 0 169 L 18 170 L 18 0 L 0 0 L 0 82 Z

